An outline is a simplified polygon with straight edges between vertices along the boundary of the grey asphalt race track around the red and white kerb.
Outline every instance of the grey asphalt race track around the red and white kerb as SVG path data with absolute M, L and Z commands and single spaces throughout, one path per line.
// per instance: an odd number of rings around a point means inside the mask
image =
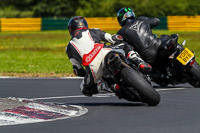
M 161 103 L 148 107 L 113 95 L 84 97 L 81 79 L 0 79 L 0 97 L 28 98 L 88 109 L 82 116 L 0 126 L 0 133 L 199 133 L 200 88 L 189 84 L 156 89 Z

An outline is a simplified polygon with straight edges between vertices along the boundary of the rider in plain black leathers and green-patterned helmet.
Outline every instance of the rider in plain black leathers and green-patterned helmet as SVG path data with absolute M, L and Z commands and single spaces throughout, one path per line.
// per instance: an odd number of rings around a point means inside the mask
M 130 8 L 122 8 L 117 13 L 117 19 L 122 28 L 117 32 L 123 39 L 134 47 L 143 60 L 152 65 L 158 56 L 161 44 L 170 39 L 168 35 L 157 38 L 152 28 L 160 23 L 158 18 L 135 17 Z

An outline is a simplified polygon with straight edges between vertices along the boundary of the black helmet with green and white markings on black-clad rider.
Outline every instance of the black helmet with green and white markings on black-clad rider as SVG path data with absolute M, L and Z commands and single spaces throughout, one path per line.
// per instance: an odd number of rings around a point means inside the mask
M 117 20 L 121 26 L 124 26 L 125 21 L 130 18 L 135 18 L 135 14 L 131 8 L 121 8 L 117 12 Z

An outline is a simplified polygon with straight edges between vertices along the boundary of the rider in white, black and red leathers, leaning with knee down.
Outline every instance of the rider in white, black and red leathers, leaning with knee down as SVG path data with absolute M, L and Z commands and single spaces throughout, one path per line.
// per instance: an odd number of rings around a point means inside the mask
M 104 57 L 113 48 L 106 46 L 101 41 L 112 44 L 121 43 L 118 45 L 118 50 L 125 52 L 127 58 L 135 62 L 141 69 L 150 68 L 135 51 L 132 51 L 129 45 L 123 43 L 121 36 L 112 36 L 99 29 L 88 29 L 87 21 L 81 16 L 71 18 L 68 29 L 71 40 L 66 47 L 66 53 L 73 65 L 74 74 L 84 77 L 80 89 L 86 96 L 92 96 L 92 94 L 106 89 L 106 85 L 100 80 L 103 75 Z

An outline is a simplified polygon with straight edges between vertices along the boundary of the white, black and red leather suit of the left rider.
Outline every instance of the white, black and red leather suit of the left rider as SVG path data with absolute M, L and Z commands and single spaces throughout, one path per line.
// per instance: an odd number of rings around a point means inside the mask
M 104 58 L 107 53 L 113 50 L 101 41 L 110 43 L 123 41 L 122 38 L 117 39 L 117 35 L 114 37 L 115 39 L 109 33 L 99 29 L 79 29 L 73 33 L 67 45 L 66 53 L 73 65 L 74 73 L 77 76 L 85 77 L 80 85 L 83 94 L 91 96 L 98 93 L 96 89 L 97 81 L 102 78 Z M 125 53 L 132 50 L 128 48 L 129 45 L 126 46 L 121 47 Z

